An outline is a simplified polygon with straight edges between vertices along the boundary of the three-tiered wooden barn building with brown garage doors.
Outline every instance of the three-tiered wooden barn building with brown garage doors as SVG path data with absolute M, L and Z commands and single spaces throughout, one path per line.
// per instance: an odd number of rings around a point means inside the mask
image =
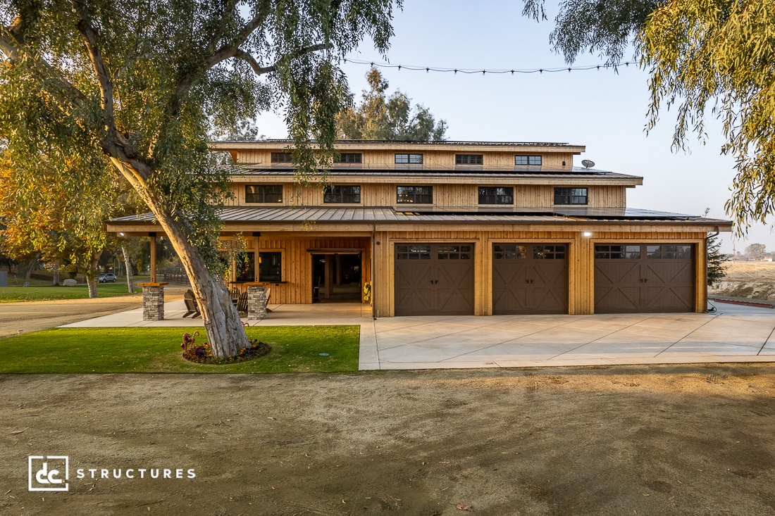
M 341 141 L 327 186 L 294 184 L 291 142 L 217 142 L 234 199 L 232 282 L 273 304 L 374 315 L 703 312 L 706 240 L 732 223 L 628 208 L 642 177 L 575 167 L 566 143 Z M 588 163 L 587 163 L 588 164 Z M 150 215 L 108 229 L 154 234 Z

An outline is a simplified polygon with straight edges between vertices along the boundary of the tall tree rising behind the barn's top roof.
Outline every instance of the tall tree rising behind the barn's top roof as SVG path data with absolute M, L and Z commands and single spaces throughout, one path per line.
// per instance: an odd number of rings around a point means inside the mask
M 433 117 L 425 106 L 415 104 L 405 93 L 386 97 L 387 81 L 377 68 L 366 74 L 369 90 L 363 90 L 360 105 L 350 96 L 350 106 L 337 115 L 340 139 L 396 139 L 443 141 L 446 122 Z

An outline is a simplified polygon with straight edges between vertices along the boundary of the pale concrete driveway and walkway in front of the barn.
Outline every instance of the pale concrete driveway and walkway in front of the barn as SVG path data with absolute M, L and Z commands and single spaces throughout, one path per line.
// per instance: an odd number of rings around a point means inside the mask
M 717 303 L 711 314 L 371 318 L 363 304 L 270 304 L 251 325 L 360 325 L 360 370 L 775 361 L 775 310 Z M 183 301 L 65 328 L 200 326 Z M 243 319 L 246 320 L 246 319 Z

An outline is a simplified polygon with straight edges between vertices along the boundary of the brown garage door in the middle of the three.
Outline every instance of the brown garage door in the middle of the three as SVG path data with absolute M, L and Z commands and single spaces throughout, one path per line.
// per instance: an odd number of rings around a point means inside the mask
M 567 246 L 494 244 L 492 313 L 567 314 Z

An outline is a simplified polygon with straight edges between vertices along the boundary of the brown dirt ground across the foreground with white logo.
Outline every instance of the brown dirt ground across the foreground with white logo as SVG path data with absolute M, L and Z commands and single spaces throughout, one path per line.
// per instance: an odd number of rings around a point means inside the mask
M 775 513 L 770 364 L 5 375 L 0 392 L 3 514 Z M 28 492 L 31 455 L 68 456 L 69 492 Z

